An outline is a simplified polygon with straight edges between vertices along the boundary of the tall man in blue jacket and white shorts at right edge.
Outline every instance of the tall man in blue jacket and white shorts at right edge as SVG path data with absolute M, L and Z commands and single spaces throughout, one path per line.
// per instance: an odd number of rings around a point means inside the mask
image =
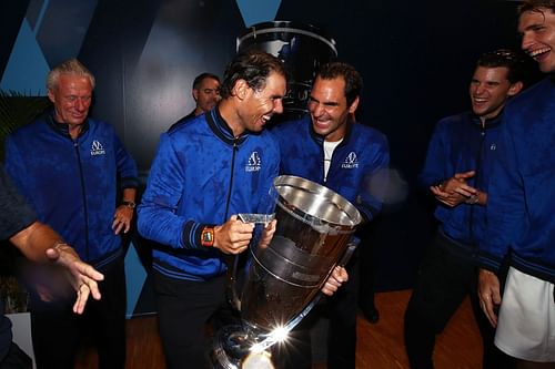
M 522 49 L 549 76 L 505 109 L 480 244 L 480 300 L 497 327 L 495 345 L 519 368 L 554 368 L 555 1 L 526 0 L 518 14 Z M 502 299 L 496 274 L 505 259 Z

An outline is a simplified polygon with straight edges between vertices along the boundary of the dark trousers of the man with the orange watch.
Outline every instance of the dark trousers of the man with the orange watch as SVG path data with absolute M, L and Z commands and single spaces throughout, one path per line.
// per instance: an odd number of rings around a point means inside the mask
M 212 368 L 205 325 L 232 324 L 224 276 L 208 281 L 180 280 L 154 271 L 160 336 L 169 369 Z

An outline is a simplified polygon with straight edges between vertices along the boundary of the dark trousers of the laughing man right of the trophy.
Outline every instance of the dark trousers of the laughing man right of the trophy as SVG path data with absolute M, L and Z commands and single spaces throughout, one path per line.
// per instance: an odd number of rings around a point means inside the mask
M 327 368 L 354 369 L 356 353 L 356 309 L 360 284 L 357 252 L 347 265 L 349 281 L 323 306 L 315 308 L 293 329 L 286 345 L 274 348 L 278 367 L 282 369 L 312 368 L 310 329 L 321 317 L 327 317 Z

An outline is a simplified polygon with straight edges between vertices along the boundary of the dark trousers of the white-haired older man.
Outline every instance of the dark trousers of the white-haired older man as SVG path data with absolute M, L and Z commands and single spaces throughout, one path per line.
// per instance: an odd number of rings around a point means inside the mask
M 72 311 L 73 298 L 43 303 L 32 291 L 31 334 L 38 369 L 72 369 L 79 344 L 91 337 L 98 349 L 99 368 L 125 366 L 125 274 L 123 258 L 104 268 L 100 293 L 92 297 L 82 316 Z

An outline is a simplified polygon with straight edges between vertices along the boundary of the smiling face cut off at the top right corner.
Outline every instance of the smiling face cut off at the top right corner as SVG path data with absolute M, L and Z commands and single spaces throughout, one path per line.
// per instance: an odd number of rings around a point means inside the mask
M 518 20 L 522 49 L 538 63 L 544 73 L 555 71 L 555 13 L 539 8 L 526 11 Z

